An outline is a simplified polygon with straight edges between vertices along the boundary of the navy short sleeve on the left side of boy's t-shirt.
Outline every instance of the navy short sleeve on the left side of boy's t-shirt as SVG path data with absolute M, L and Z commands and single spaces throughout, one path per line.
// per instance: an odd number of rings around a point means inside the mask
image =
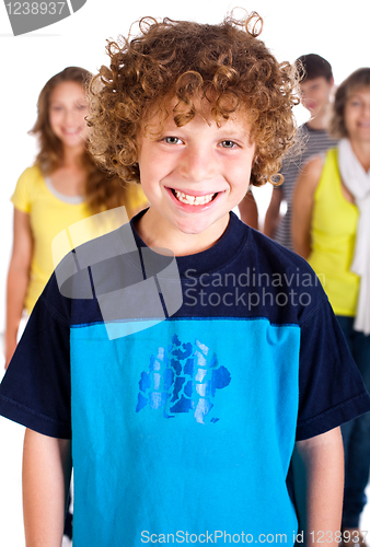
M 48 284 L 56 284 L 54 277 Z M 48 292 L 47 287 L 37 301 L 0 385 L 0 414 L 38 433 L 70 439 L 69 326 L 48 304 Z

